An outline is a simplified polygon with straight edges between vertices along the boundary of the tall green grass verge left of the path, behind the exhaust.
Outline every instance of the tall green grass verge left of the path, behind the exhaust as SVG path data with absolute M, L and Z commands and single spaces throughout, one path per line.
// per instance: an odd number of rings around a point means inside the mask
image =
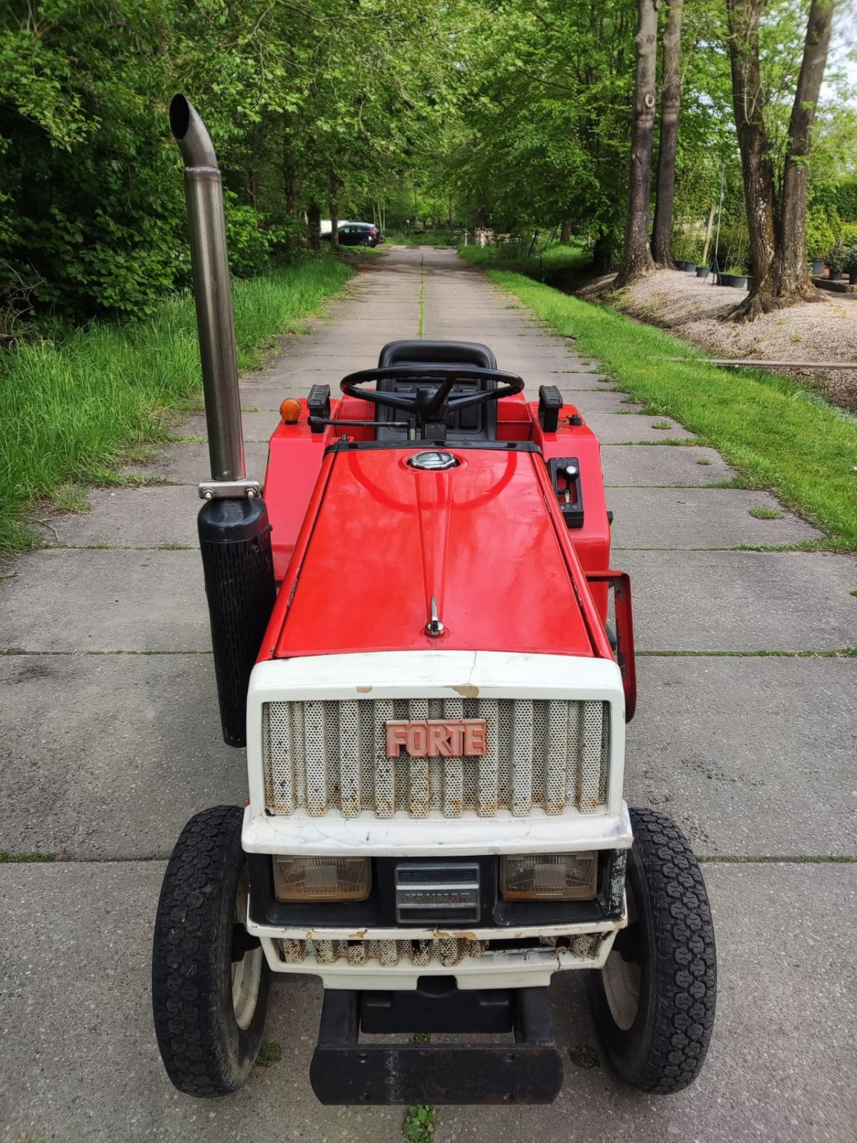
M 304 325 L 353 271 L 321 258 L 233 287 L 239 365 L 254 368 L 274 335 Z M 112 482 L 142 446 L 170 438 L 169 414 L 199 401 L 190 296 L 145 321 L 78 329 L 0 354 L 0 551 L 34 542 L 26 517 L 49 497 L 81 506 L 81 486 Z

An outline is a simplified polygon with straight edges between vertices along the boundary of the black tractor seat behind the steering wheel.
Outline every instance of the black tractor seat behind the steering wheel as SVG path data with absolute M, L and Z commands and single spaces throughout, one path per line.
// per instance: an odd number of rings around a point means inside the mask
M 426 341 L 402 341 L 387 342 L 381 351 L 378 368 L 385 369 L 392 365 L 424 365 L 432 366 L 450 365 L 481 365 L 486 369 L 496 369 L 497 359 L 487 345 L 479 342 L 426 342 Z M 416 389 L 435 387 L 431 382 L 421 382 L 418 385 L 413 381 L 398 381 L 393 377 L 385 377 L 378 382 L 378 391 L 382 393 L 414 393 Z M 497 383 L 492 378 L 476 377 L 471 381 L 458 382 L 452 386 L 449 394 L 452 397 L 464 397 L 483 389 L 496 389 Z M 401 413 L 398 409 L 377 406 L 376 416 L 378 421 L 399 421 Z M 407 440 L 407 429 L 378 425 L 375 430 L 376 440 Z M 458 413 L 450 413 L 447 417 L 447 440 L 496 440 L 497 439 L 497 402 L 489 401 L 487 405 L 476 405 L 470 409 L 459 409 Z

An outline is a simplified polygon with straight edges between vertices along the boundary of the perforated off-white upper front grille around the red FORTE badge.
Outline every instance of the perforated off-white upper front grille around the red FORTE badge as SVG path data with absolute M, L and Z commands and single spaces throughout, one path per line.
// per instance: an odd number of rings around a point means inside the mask
M 391 719 L 484 719 L 482 757 L 386 754 Z M 610 704 L 601 701 L 397 698 L 272 702 L 263 708 L 265 802 L 273 814 L 516 817 L 607 800 Z

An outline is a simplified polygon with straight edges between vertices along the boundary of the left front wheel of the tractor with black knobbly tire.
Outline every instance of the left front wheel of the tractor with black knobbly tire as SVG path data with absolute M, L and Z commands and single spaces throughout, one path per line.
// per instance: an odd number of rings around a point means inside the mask
M 218 806 L 191 818 L 158 902 L 154 1030 L 167 1074 L 185 1095 L 237 1092 L 262 1047 L 271 969 L 245 927 L 242 816 Z

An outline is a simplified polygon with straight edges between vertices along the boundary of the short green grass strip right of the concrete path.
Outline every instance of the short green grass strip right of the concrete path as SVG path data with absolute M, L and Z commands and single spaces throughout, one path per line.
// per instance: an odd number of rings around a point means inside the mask
M 857 423 L 787 377 L 704 365 L 686 342 L 521 274 L 491 278 L 601 362 L 618 386 L 657 405 L 758 488 L 857 549 Z M 699 351 L 702 354 L 702 351 Z M 665 360 L 670 357 L 682 360 Z M 666 440 L 662 443 L 667 443 Z M 684 443 L 673 441 L 670 443 Z

